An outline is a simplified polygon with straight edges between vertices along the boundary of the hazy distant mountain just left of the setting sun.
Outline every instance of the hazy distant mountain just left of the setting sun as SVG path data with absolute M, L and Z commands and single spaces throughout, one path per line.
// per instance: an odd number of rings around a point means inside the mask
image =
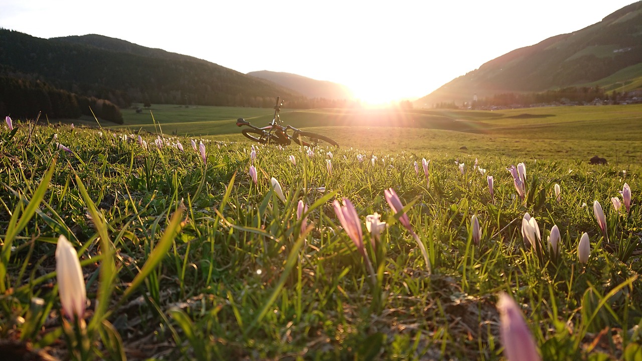
M 352 99 L 352 91 L 345 85 L 327 82 L 324 80 L 315 80 L 290 73 L 277 73 L 275 71 L 252 71 L 247 73 L 250 76 L 256 76 L 270 80 L 270 82 L 282 85 L 293 91 L 299 92 L 308 98 L 325 98 L 325 99 Z

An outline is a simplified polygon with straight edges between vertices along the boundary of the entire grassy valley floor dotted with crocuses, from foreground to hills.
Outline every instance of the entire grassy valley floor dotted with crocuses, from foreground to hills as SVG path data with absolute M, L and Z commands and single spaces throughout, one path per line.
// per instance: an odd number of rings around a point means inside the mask
M 254 152 L 269 110 L 153 108 L 0 129 L 5 355 L 502 360 L 521 322 L 543 360 L 642 359 L 641 106 L 282 110 L 341 147 Z

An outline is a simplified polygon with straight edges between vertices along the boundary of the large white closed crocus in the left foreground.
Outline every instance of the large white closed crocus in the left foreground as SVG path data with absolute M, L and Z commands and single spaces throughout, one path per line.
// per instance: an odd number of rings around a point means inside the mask
M 87 306 L 85 279 L 76 249 L 62 234 L 58 237 L 56 245 L 56 279 L 62 312 L 69 319 L 82 319 Z

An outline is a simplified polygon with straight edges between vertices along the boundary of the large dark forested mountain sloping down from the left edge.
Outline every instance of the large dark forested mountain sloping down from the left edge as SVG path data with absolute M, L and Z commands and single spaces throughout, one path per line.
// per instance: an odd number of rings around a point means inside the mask
M 0 75 L 131 102 L 271 107 L 301 94 L 205 60 L 101 35 L 40 39 L 0 29 Z

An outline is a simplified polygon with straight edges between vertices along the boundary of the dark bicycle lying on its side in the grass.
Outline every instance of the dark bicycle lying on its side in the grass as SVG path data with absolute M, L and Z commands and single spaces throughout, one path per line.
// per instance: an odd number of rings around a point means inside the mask
M 249 129 L 241 130 L 243 136 L 261 144 L 276 143 L 279 145 L 290 145 L 290 143 L 294 141 L 294 143 L 302 146 L 334 146 L 338 148 L 339 143 L 336 143 L 336 141 L 333 141 L 329 137 L 312 132 L 305 132 L 291 125 L 286 125 L 285 127 L 280 125 L 279 123 L 282 122 L 280 112 L 283 101 L 279 103 L 279 100 L 281 100 L 281 97 L 277 96 L 277 103 L 274 106 L 274 118 L 272 119 L 272 123 L 266 127 L 259 128 L 243 118 L 238 118 L 236 120 L 237 127 L 243 127 L 244 125 L 250 127 Z M 288 134 L 288 130 L 293 130 L 293 134 Z

